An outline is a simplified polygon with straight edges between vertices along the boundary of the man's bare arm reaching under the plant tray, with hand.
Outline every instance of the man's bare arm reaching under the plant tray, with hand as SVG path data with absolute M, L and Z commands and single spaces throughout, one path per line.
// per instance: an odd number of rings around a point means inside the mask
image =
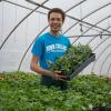
M 39 60 L 40 60 L 39 57 L 36 57 L 34 54 L 32 56 L 32 60 L 31 60 L 31 64 L 30 64 L 30 69 L 32 71 L 34 71 L 39 74 L 42 74 L 42 75 L 52 77 L 56 80 L 63 80 L 63 78 L 65 79 L 65 75 L 58 74 L 58 73 L 60 73 L 59 71 L 53 72 L 53 71 L 42 69 L 40 65 L 38 65 Z

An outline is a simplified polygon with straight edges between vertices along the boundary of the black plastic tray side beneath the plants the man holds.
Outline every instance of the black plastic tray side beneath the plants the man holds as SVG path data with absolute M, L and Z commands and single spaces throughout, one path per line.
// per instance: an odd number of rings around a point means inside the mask
M 95 61 L 95 53 L 91 53 L 70 75 L 67 75 L 67 80 L 71 80 L 77 77 L 85 67 Z

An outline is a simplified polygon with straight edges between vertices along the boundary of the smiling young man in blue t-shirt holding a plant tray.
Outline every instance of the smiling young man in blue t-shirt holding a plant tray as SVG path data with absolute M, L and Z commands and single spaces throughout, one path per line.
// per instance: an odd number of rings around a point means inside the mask
M 60 85 L 60 82 L 65 79 L 60 71 L 50 71 L 49 65 L 62 57 L 71 46 L 69 39 L 60 34 L 64 19 L 65 14 L 61 9 L 51 9 L 48 13 L 50 31 L 38 37 L 32 48 L 30 68 L 41 74 L 41 83 L 46 85 Z

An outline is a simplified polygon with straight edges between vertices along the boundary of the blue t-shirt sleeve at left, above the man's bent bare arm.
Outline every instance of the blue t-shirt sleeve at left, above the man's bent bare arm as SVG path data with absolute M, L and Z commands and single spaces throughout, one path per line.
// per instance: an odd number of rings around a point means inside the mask
M 37 57 L 41 57 L 43 53 L 43 41 L 40 38 L 36 39 L 36 42 L 32 47 L 31 52 L 37 56 Z

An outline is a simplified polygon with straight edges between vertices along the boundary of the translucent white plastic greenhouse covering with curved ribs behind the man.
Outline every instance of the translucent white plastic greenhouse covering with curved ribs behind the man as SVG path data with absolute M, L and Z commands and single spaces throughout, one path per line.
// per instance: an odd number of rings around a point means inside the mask
M 0 0 L 0 72 L 30 72 L 34 39 L 49 30 L 47 13 L 61 8 L 62 33 L 95 53 L 81 73 L 111 73 L 111 0 Z

